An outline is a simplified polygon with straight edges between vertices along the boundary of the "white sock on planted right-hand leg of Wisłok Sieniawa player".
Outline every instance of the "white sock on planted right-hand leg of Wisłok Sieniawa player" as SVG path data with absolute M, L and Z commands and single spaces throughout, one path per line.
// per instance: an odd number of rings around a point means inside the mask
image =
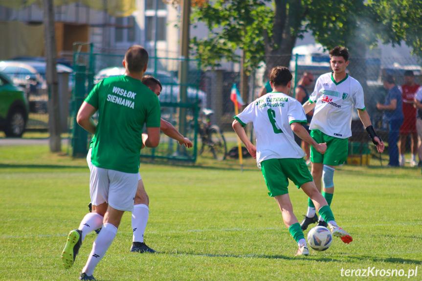
M 109 249 L 111 242 L 113 242 L 114 237 L 117 234 L 117 227 L 111 223 L 105 223 L 100 233 L 92 245 L 92 251 L 89 254 L 87 263 L 82 269 L 82 272 L 85 272 L 88 276 L 91 276 L 94 273 L 95 266 L 98 262 L 104 257 L 107 250 Z

